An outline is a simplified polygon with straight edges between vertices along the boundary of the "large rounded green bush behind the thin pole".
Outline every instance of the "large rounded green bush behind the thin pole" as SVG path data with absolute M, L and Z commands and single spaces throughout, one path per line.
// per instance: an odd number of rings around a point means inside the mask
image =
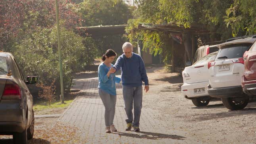
M 91 38 L 61 29 L 61 52 L 64 71 L 64 85 L 70 82 L 71 75 L 93 62 L 97 52 Z M 36 75 L 40 82 L 50 85 L 57 78 L 59 83 L 58 42 L 56 28 L 37 28 L 27 32 L 12 53 L 25 75 Z

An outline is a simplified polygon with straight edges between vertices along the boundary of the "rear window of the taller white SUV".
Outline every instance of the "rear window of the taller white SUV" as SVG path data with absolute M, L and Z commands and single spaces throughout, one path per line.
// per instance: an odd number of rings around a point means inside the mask
M 216 56 L 216 60 L 223 58 L 242 58 L 243 54 L 251 44 L 231 44 L 221 48 Z

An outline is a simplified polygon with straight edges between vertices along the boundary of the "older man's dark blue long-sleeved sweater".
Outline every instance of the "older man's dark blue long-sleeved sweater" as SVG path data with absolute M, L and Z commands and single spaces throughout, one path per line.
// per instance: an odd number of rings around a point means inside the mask
M 145 85 L 148 85 L 145 65 L 138 54 L 132 53 L 131 58 L 126 58 L 125 54 L 122 54 L 117 58 L 113 67 L 117 71 L 121 69 L 121 79 L 124 86 L 141 86 L 142 81 Z

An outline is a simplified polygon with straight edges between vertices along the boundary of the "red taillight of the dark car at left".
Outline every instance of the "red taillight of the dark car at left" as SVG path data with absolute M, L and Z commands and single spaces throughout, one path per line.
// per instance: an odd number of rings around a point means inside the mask
M 21 91 L 17 84 L 5 84 L 2 99 L 21 99 Z

